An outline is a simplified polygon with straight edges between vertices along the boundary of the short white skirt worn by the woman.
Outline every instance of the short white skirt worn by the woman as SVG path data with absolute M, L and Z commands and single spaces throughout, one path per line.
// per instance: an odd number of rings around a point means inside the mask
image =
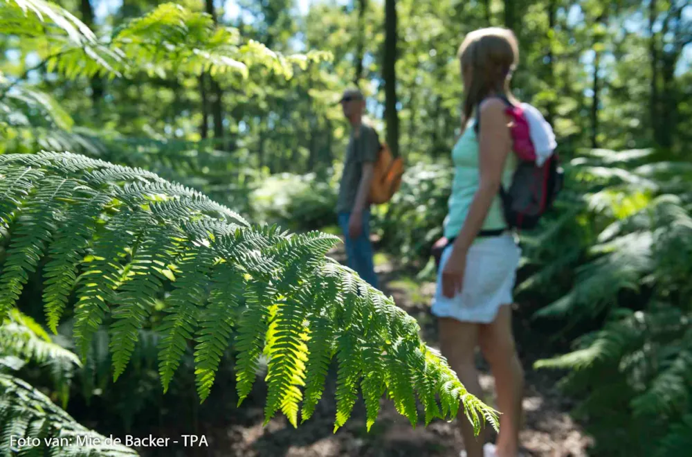
M 512 292 L 521 249 L 513 235 L 479 238 L 466 254 L 466 271 L 462 292 L 454 298 L 442 294 L 442 269 L 452 245 L 444 249 L 437 271 L 437 290 L 432 300 L 432 314 L 457 321 L 491 323 L 500 306 L 513 302 Z

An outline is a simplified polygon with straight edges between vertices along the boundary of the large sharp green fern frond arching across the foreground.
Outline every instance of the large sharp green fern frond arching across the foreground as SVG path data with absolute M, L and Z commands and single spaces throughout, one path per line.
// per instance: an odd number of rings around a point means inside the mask
M 496 425 L 495 411 L 468 395 L 421 342 L 415 319 L 325 256 L 338 242 L 334 236 L 252 226 L 156 174 L 55 152 L 0 156 L 0 222 L 8 233 L 0 316 L 43 263 L 49 323 L 55 328 L 72 310 L 75 294 L 80 355 L 107 325 L 114 377 L 125 370 L 147 316 L 158 313 L 158 297 L 165 299 L 158 328 L 164 389 L 194 341 L 204 400 L 235 338 L 240 401 L 260 355 L 268 358 L 266 420 L 280 410 L 295 426 L 301 402 L 302 419 L 309 418 L 336 355 L 337 428 L 358 388 L 368 425 L 377 415 L 374 399 L 385 391 L 412 424 L 418 395 L 426 422 L 454 417 L 462 402 L 475 427 Z

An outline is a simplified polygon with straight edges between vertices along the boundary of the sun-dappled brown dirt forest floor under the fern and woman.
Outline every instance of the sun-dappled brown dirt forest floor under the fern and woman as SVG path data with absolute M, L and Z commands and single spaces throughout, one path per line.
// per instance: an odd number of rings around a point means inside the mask
M 330 256 L 344 260 L 343 244 Z M 406 269 L 394 265 L 387 256 L 376 255 L 376 271 L 383 292 L 394 296 L 399 307 L 414 316 L 421 326 L 426 343 L 438 348 L 437 326 L 430 314 L 430 298 L 434 283 L 419 283 Z M 514 313 L 518 351 L 526 370 L 524 396 L 525 422 L 521 432 L 522 455 L 545 457 L 581 457 L 588 455 L 590 440 L 567 413 L 571 407 L 556 387 L 556 373 L 531 368 L 536 359 L 547 357 L 545 338 L 536 337 L 529 319 L 521 310 Z M 493 377 L 479 357 L 482 400 L 494 406 Z M 251 397 L 237 410 L 230 427 L 218 429 L 211 435 L 215 449 L 213 456 L 243 457 L 394 457 L 439 456 L 456 457 L 463 448 L 456 421 L 435 420 L 428 427 L 424 423 L 413 429 L 408 419 L 399 415 L 394 404 L 381 400 L 381 412 L 370 433 L 365 431 L 365 406 L 362 398 L 356 403 L 352 417 L 345 427 L 332 433 L 336 414 L 336 373 L 331 370 L 327 388 L 311 420 L 294 429 L 284 416 L 277 415 L 262 427 L 262 408 L 266 391 L 264 383 L 255 383 Z M 419 414 L 420 415 L 420 414 Z M 424 417 L 424 415 L 423 415 Z M 493 437 L 489 436 L 489 440 Z

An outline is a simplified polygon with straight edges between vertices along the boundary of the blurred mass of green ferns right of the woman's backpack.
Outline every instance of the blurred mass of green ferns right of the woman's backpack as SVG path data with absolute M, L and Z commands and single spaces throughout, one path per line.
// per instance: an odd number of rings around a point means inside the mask
M 575 413 L 591 418 L 597 453 L 611 456 L 669 455 L 692 411 L 691 168 L 646 163 L 650 154 L 595 150 L 572 161 L 579 193 L 527 238 L 535 273 L 520 285 L 558 296 L 536 317 L 564 321 L 560 334 L 605 320 L 536 368 L 570 370 L 563 386 L 581 399 Z M 612 435 L 614 423 L 628 428 Z

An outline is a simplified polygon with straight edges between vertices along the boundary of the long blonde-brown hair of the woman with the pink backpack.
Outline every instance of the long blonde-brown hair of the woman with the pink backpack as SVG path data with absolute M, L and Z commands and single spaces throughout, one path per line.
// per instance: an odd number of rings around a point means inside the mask
M 519 46 L 507 28 L 480 28 L 466 35 L 457 56 L 463 77 L 471 78 L 464 90 L 465 126 L 473 110 L 490 93 L 509 92 L 511 74 L 519 63 Z

